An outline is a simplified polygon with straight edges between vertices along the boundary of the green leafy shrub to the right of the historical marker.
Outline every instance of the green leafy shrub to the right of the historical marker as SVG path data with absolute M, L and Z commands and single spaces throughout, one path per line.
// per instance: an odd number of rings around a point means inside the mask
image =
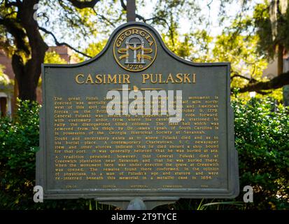
M 289 109 L 255 98 L 233 106 L 241 190 L 254 189 L 254 202 L 246 207 L 288 209 Z

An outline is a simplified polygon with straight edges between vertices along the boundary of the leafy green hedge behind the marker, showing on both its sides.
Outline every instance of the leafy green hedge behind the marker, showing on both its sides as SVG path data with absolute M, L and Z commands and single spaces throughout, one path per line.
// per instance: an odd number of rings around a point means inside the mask
M 253 186 L 254 202 L 243 207 L 220 204 L 207 209 L 288 209 L 289 110 L 268 99 L 251 99 L 234 108 L 235 146 L 239 153 L 240 195 Z M 88 209 L 89 200 L 34 203 L 38 104 L 20 102 L 14 120 L 0 120 L 0 209 Z M 223 202 L 228 200 L 213 200 Z M 232 201 L 232 200 L 230 200 Z M 164 208 L 197 209 L 201 200 L 180 200 Z M 204 200 L 202 204 L 212 202 Z

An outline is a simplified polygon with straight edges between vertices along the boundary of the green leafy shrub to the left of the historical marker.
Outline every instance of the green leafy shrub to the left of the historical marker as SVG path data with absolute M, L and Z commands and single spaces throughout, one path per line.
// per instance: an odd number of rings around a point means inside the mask
M 14 120 L 0 120 L 0 209 L 84 209 L 85 200 L 33 201 L 39 108 L 34 102 L 19 102 Z

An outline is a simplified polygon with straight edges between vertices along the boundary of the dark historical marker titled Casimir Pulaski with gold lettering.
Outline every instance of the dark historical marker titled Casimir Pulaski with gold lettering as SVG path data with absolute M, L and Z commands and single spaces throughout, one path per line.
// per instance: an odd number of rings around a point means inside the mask
M 157 204 L 239 194 L 230 63 L 174 55 L 129 22 L 79 64 L 43 64 L 44 199 Z

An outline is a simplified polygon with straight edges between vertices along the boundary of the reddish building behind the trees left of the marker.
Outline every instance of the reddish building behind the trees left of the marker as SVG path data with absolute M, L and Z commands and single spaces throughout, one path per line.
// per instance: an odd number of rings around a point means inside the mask
M 67 64 L 78 63 L 78 59 L 73 56 L 73 52 L 66 46 L 50 47 L 48 52 L 56 52 Z M 1 116 L 11 116 L 14 113 L 15 101 L 17 97 L 17 86 L 15 84 L 15 74 L 13 72 L 11 59 L 3 50 L 0 50 L 0 66 L 3 73 L 0 76 L 0 111 Z M 42 103 L 41 87 L 37 87 L 37 102 Z

